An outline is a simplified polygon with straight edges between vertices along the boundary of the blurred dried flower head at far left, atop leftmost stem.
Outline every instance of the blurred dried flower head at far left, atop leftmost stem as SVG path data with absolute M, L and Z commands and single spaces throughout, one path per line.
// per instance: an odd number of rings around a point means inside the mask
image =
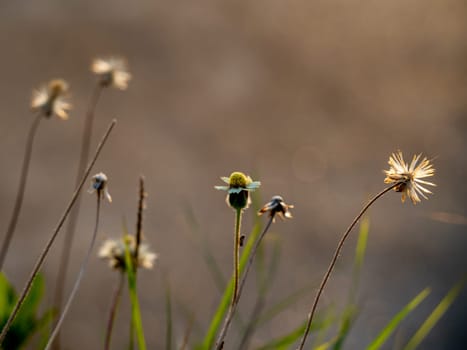
M 60 119 L 68 119 L 71 104 L 67 100 L 68 84 L 62 79 L 51 80 L 32 92 L 31 108 L 41 111 L 46 117 L 52 114 Z

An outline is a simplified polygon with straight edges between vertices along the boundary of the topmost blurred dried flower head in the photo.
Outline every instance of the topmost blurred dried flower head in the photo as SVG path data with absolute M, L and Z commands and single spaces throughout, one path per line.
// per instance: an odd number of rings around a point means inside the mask
M 91 70 L 100 76 L 103 86 L 113 85 L 120 90 L 126 90 L 131 79 L 126 61 L 119 57 L 96 58 Z

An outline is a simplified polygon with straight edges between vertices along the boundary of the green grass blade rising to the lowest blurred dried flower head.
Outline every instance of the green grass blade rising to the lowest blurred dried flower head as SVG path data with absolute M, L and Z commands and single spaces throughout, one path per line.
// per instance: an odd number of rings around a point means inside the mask
M 133 259 L 130 255 L 128 245 L 125 245 L 125 266 L 126 274 L 128 276 L 128 291 L 131 301 L 131 317 L 133 322 L 134 331 L 136 333 L 136 340 L 138 342 L 139 350 L 146 350 L 146 340 L 144 338 L 143 324 L 141 321 L 141 311 L 139 307 L 138 294 L 136 291 L 136 274 L 133 267 Z

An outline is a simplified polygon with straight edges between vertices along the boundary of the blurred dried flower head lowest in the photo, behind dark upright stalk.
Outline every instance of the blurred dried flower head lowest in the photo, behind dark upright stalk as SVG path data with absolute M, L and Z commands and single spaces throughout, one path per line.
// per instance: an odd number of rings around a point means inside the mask
M 131 256 L 134 258 L 136 249 L 136 239 L 132 235 L 124 235 L 118 239 L 107 239 L 102 243 L 98 256 L 101 259 L 107 259 L 109 266 L 117 270 L 126 270 L 125 264 L 125 245 L 129 248 Z M 138 248 L 138 261 L 136 266 L 144 269 L 152 269 L 157 254 L 152 252 L 149 245 L 141 243 Z M 133 264 L 135 261 L 133 261 Z

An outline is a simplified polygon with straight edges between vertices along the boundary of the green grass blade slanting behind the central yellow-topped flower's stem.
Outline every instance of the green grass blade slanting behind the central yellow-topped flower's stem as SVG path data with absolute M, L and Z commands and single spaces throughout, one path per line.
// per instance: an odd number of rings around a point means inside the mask
M 243 252 L 240 257 L 240 274 L 245 269 L 245 266 L 248 262 L 248 257 L 250 256 L 254 242 L 256 241 L 260 233 L 261 233 L 261 226 L 255 225 L 250 236 L 248 237 L 248 240 L 243 248 Z M 204 337 L 201 349 L 205 349 L 205 350 L 212 349 L 214 342 L 215 342 L 216 334 L 219 331 L 219 328 L 222 324 L 222 320 L 224 319 L 224 316 L 229 308 L 230 300 L 232 298 L 232 289 L 233 289 L 233 278 L 230 278 L 229 283 L 227 284 L 227 287 L 224 290 L 224 294 L 222 295 L 221 302 L 219 306 L 217 307 L 214 317 L 211 320 L 211 324 L 209 325 L 208 332 L 206 333 L 206 336 Z

